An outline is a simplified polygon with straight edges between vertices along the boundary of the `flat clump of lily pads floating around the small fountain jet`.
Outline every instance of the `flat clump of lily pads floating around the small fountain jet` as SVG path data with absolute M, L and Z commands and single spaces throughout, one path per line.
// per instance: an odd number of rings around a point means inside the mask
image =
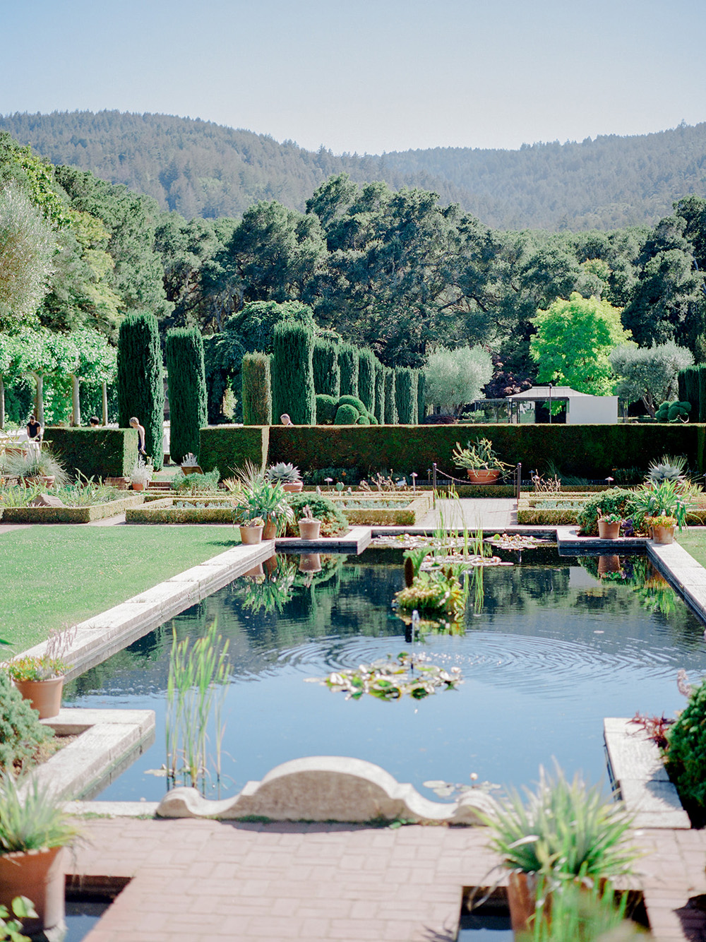
M 317 681 L 318 678 L 308 677 L 307 680 Z M 458 667 L 446 671 L 428 663 L 424 655 L 414 657 L 402 651 L 396 658 L 388 655 L 372 664 L 361 664 L 355 670 L 333 671 L 318 682 L 329 690 L 345 691 L 346 700 L 360 700 L 363 693 L 379 700 L 399 700 L 406 695 L 424 700 L 439 690 L 455 690 L 463 683 L 463 677 Z

